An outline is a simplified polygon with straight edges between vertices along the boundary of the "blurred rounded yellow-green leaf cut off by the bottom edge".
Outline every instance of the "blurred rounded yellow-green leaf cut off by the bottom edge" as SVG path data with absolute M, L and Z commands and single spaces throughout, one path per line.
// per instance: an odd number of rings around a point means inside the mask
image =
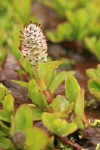
M 30 128 L 26 130 L 27 150 L 42 150 L 46 149 L 48 143 L 47 134 L 39 128 Z

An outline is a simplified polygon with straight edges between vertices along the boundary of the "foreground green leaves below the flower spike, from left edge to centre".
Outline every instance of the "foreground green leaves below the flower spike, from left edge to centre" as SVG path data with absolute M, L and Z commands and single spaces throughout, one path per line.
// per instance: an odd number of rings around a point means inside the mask
M 23 66 L 27 70 L 26 63 L 24 62 Z M 3 107 L 0 110 L 0 148 L 54 149 L 54 135 L 67 137 L 87 126 L 84 90 L 79 87 L 73 76 L 74 72 L 57 72 L 56 69 L 61 64 L 61 61 L 40 63 L 38 75 L 33 73 L 34 78 L 28 83 L 13 81 L 28 89 L 28 96 L 32 101 L 31 104 L 24 104 L 18 109 L 14 108 L 10 91 L 0 84 L 0 102 Z M 33 72 L 36 71 L 36 66 L 34 69 Z M 66 96 L 54 97 L 55 90 L 63 81 Z M 70 119 L 71 114 L 73 119 Z M 35 121 L 41 121 L 52 136 L 48 136 L 43 129 L 34 127 Z

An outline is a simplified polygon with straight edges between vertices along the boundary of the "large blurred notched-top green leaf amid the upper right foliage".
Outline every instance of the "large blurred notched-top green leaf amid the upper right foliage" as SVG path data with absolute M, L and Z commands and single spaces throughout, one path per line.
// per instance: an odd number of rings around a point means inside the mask
M 66 17 L 73 30 L 73 39 L 76 41 L 82 41 L 88 34 L 86 26 L 88 25 L 89 17 L 85 9 L 76 9 L 75 12 L 71 10 L 66 11 Z

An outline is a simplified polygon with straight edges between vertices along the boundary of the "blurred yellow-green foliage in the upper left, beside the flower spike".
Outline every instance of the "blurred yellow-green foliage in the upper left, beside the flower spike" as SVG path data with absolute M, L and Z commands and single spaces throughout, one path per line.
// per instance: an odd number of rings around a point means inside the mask
M 36 18 L 31 16 L 31 0 L 5 0 L 0 1 L 0 59 L 7 52 L 11 51 L 17 58 L 18 52 L 19 26 Z M 6 48 L 6 51 L 4 50 Z M 5 52 L 5 53 L 4 53 Z M 3 53 L 3 54 L 2 54 Z

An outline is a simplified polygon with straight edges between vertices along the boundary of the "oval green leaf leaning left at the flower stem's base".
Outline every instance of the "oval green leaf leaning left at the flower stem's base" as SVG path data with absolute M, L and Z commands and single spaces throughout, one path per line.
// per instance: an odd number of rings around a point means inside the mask
M 45 108 L 47 106 L 45 97 L 34 79 L 30 80 L 28 84 L 28 95 L 32 102 L 39 107 Z

